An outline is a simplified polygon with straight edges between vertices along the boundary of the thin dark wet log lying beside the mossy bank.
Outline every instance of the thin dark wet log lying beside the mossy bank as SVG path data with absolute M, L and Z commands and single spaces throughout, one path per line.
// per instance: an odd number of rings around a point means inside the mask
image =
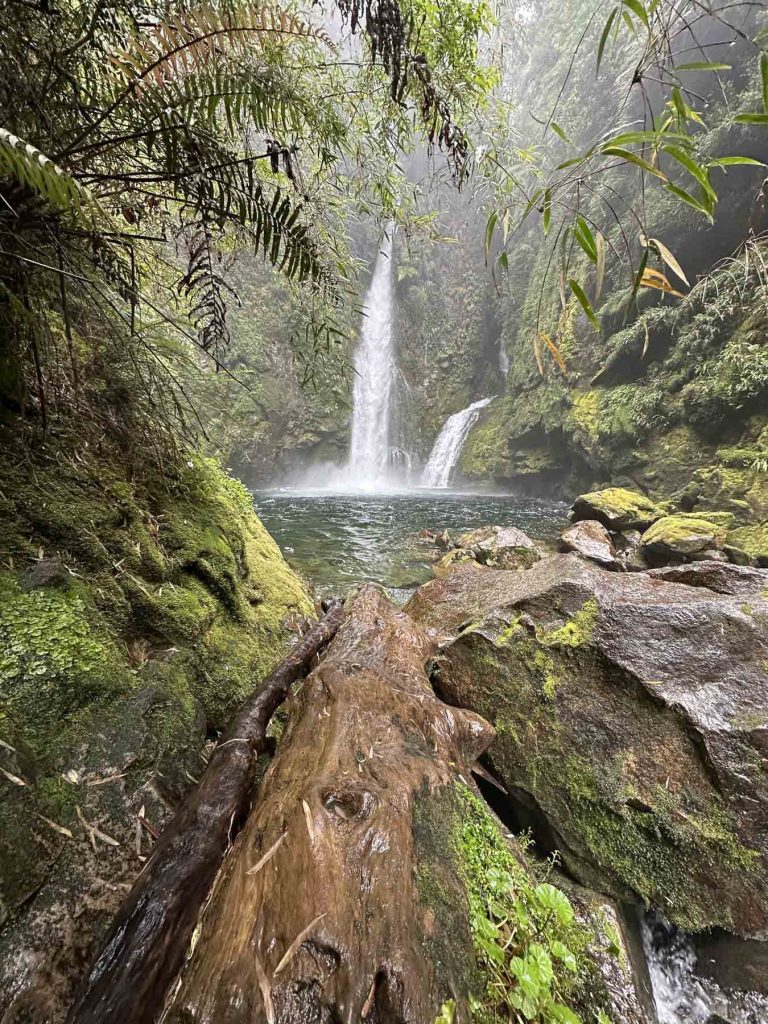
M 241 709 L 196 790 L 160 837 L 96 956 L 69 1024 L 153 1024 L 201 908 L 242 827 L 266 727 L 344 617 L 334 601 Z

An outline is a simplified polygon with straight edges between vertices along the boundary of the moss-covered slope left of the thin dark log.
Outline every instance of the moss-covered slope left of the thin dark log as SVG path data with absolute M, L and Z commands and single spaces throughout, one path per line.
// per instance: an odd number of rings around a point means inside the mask
M 55 1020 L 207 739 L 312 604 L 213 462 L 18 451 L 0 465 L 0 989 L 16 1020 L 33 981 Z

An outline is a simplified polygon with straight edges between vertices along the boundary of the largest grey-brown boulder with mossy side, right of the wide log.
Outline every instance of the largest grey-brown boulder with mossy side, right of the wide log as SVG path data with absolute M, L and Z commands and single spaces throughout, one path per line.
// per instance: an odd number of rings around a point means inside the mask
M 680 927 L 768 937 L 768 600 L 558 555 L 407 610 L 436 685 L 490 720 L 492 767 L 583 883 Z

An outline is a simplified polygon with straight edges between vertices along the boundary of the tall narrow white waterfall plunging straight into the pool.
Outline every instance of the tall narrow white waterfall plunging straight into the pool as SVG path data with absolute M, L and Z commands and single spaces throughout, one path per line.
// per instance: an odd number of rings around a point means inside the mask
M 385 484 L 390 460 L 395 361 L 392 348 L 392 240 L 385 239 L 366 295 L 367 317 L 354 353 L 352 435 L 347 477 L 352 486 Z

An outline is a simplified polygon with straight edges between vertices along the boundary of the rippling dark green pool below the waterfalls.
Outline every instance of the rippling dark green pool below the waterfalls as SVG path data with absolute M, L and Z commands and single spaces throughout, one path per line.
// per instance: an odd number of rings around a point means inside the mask
M 432 577 L 426 527 L 452 537 L 487 523 L 519 526 L 536 540 L 555 540 L 567 506 L 512 496 L 413 492 L 393 495 L 254 494 L 264 525 L 286 558 L 322 594 L 343 594 L 364 581 L 407 589 Z

